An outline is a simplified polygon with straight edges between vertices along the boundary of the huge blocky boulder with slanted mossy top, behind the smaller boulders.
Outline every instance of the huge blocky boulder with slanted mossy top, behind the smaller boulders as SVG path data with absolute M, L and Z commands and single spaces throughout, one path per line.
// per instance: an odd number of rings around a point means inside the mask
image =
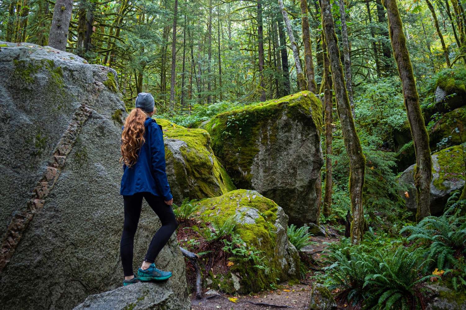
M 311 92 L 225 112 L 204 125 L 237 188 L 274 200 L 291 224 L 317 220 L 322 102 Z

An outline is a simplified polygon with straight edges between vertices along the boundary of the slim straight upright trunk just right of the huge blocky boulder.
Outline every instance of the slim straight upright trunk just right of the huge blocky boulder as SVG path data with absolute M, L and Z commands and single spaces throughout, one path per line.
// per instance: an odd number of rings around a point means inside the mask
M 322 35 L 323 37 L 323 35 Z M 325 195 L 323 197 L 323 215 L 328 218 L 332 214 L 332 131 L 333 131 L 333 100 L 332 78 L 330 77 L 330 61 L 327 55 L 325 40 L 322 40 L 323 78 L 321 93 L 325 111 Z

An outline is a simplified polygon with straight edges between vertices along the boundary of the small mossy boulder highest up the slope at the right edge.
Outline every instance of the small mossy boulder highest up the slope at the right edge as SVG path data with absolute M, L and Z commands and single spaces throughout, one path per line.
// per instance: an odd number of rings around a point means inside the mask
M 435 107 L 439 112 L 448 112 L 466 103 L 466 70 L 446 69 L 437 76 L 435 84 Z

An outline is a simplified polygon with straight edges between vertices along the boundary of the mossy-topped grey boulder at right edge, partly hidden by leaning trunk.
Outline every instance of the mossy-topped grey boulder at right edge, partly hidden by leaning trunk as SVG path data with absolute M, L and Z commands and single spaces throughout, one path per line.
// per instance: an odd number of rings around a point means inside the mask
M 411 165 L 398 178 L 404 185 L 399 192 L 411 211 L 417 210 L 416 188 L 414 186 L 414 169 Z M 460 190 L 464 184 L 465 164 L 461 145 L 449 147 L 432 154 L 431 214 L 442 214 L 446 200 L 451 193 Z M 408 191 L 408 196 L 404 194 Z

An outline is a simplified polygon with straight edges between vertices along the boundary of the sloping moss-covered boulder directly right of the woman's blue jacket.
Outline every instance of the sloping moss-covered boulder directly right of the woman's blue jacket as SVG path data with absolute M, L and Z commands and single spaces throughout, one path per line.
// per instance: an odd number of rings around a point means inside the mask
M 175 204 L 185 197 L 210 198 L 236 189 L 213 154 L 208 132 L 166 119 L 156 121 L 164 132 L 166 171 Z

